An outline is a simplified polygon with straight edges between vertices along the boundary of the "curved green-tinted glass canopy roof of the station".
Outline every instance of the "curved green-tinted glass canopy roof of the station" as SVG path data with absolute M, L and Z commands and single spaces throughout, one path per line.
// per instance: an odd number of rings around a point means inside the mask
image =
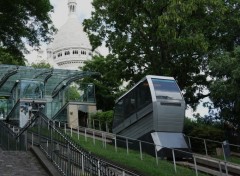
M 0 64 L 0 96 L 9 96 L 20 80 L 42 81 L 45 84 L 46 94 L 55 96 L 71 82 L 94 74 L 97 73 Z

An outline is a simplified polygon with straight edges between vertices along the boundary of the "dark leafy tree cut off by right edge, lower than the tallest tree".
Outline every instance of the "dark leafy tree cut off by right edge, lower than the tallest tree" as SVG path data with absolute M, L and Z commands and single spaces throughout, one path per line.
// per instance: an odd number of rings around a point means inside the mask
M 240 130 L 240 46 L 233 52 L 221 52 L 209 67 L 213 77 L 210 85 L 212 116 L 233 131 Z

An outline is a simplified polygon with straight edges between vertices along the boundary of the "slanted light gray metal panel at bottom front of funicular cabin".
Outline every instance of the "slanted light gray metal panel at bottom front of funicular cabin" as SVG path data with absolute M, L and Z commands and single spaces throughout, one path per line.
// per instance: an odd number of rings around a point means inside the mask
M 151 136 L 154 144 L 157 145 L 157 151 L 164 147 L 179 149 L 188 148 L 182 133 L 153 132 L 151 133 Z

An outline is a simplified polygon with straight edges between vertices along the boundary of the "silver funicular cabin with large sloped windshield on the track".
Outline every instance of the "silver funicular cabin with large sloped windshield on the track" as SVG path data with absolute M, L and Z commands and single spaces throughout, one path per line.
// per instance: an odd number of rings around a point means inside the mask
M 148 75 L 116 100 L 113 132 L 154 143 L 150 153 L 172 156 L 167 148 L 188 149 L 182 134 L 185 106 L 174 78 Z

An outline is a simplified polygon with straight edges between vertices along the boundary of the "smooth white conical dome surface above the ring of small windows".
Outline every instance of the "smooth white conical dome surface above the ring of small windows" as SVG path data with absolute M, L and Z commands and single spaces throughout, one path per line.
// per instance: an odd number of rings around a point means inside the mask
M 67 22 L 59 29 L 54 37 L 51 49 L 57 51 L 75 47 L 92 49 L 87 34 L 83 31 L 81 23 L 74 15 L 70 16 Z

